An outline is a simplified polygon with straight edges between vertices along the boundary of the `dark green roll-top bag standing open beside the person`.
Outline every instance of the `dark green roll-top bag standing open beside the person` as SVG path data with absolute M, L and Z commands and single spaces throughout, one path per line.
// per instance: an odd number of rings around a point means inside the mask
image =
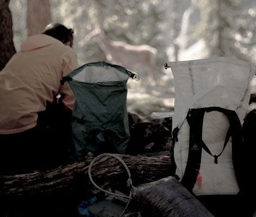
M 114 71 L 120 74 L 119 78 L 109 80 L 108 74 Z M 83 77 L 86 80 L 92 73 L 98 72 L 100 79 L 104 77 L 107 81 L 76 80 Z M 72 132 L 79 161 L 88 152 L 95 155 L 106 152 L 125 153 L 130 138 L 126 105 L 129 76 L 130 72 L 121 66 L 95 62 L 85 64 L 64 77 L 76 97 L 72 112 Z

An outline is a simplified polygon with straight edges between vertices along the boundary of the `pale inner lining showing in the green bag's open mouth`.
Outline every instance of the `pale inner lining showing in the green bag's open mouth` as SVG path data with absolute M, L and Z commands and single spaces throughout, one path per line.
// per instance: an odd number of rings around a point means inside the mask
M 86 83 L 97 83 L 106 81 L 124 81 L 128 75 L 120 72 L 114 67 L 88 66 L 73 77 L 74 80 Z

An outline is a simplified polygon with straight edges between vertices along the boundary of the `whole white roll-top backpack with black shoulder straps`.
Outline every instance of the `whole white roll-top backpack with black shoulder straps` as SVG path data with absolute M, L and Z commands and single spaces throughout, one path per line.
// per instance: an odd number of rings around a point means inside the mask
M 255 68 L 234 58 L 168 62 L 174 76 L 173 171 L 196 195 L 238 194 L 241 122 Z

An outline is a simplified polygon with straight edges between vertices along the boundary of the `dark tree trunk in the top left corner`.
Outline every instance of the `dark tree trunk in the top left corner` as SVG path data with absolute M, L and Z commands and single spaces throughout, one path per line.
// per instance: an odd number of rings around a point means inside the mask
M 16 53 L 13 42 L 13 20 L 9 9 L 10 0 L 0 0 L 0 71 Z

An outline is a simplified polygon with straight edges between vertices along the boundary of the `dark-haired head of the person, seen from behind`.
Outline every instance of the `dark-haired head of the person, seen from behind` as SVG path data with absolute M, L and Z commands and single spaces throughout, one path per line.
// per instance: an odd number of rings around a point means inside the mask
M 60 40 L 67 46 L 73 46 L 73 29 L 68 29 L 60 23 L 50 23 L 43 30 L 42 34 L 46 34 Z

